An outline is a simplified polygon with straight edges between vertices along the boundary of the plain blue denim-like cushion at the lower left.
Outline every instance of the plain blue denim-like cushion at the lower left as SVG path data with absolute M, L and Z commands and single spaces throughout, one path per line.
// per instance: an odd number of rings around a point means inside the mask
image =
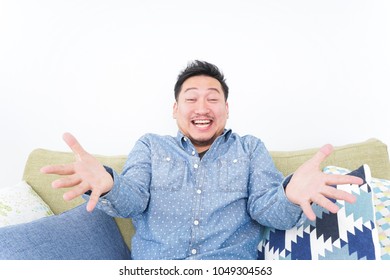
M 30 223 L 0 228 L 2 260 L 130 259 L 114 219 L 86 205 Z

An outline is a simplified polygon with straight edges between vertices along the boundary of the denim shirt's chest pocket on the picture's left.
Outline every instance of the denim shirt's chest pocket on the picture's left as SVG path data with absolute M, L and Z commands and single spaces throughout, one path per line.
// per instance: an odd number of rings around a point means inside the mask
M 185 161 L 169 156 L 156 156 L 152 159 L 151 190 L 178 191 L 185 178 Z

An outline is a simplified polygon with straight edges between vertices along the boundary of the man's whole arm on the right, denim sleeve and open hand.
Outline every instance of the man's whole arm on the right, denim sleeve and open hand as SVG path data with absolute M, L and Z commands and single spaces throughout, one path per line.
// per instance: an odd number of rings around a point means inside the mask
M 332 146 L 325 145 L 293 175 L 283 180 L 263 144 L 260 142 L 256 145 L 251 159 L 248 199 L 248 210 L 252 217 L 263 225 L 286 229 L 298 222 L 302 211 L 308 219 L 315 220 L 311 203 L 335 213 L 338 206 L 329 198 L 354 202 L 352 194 L 331 185 L 362 184 L 360 178 L 329 175 L 320 170 L 320 164 L 332 150 Z

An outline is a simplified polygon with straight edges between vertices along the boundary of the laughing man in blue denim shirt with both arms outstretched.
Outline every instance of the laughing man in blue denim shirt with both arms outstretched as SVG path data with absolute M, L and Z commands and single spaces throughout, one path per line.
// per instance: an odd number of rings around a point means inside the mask
M 330 185 L 361 179 L 320 171 L 330 145 L 283 178 L 259 139 L 226 129 L 228 91 L 215 65 L 194 61 L 175 85 L 176 137 L 143 136 L 117 174 L 66 133 L 76 162 L 42 172 L 67 175 L 53 182 L 75 186 L 64 199 L 85 194 L 88 211 L 131 217 L 134 259 L 256 259 L 261 227 L 291 228 L 302 212 L 314 220 L 311 203 L 336 212 L 328 198 L 354 201 Z

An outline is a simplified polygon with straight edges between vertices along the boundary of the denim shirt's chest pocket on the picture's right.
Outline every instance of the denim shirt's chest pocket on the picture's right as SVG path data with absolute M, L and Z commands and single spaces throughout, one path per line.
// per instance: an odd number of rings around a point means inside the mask
M 221 191 L 246 192 L 248 180 L 248 158 L 222 158 L 219 160 L 218 183 Z

